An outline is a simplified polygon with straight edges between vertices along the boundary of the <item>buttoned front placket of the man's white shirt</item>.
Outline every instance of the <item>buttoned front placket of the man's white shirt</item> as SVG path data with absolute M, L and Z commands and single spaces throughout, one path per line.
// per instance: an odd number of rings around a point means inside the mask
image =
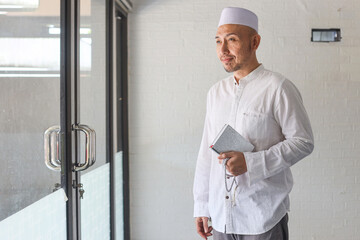
M 236 93 L 234 100 L 232 102 L 231 113 L 229 118 L 229 125 L 231 125 L 234 129 L 236 129 L 237 112 L 239 109 L 239 104 L 244 92 L 245 85 L 246 85 L 245 80 L 239 81 L 239 85 L 235 85 Z M 231 192 L 235 191 L 235 189 L 236 188 L 234 188 Z M 235 199 L 232 199 L 234 195 L 231 192 L 226 192 L 225 190 L 225 214 L 226 214 L 225 232 L 234 232 L 234 227 L 232 224 L 233 223 L 232 208 L 234 206 L 232 203 L 233 201 L 235 201 Z

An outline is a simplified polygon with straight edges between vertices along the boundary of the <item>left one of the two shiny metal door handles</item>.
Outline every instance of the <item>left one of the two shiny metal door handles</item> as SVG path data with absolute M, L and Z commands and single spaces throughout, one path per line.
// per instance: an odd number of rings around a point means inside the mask
M 61 170 L 59 133 L 60 126 L 49 127 L 44 133 L 45 165 L 53 171 Z

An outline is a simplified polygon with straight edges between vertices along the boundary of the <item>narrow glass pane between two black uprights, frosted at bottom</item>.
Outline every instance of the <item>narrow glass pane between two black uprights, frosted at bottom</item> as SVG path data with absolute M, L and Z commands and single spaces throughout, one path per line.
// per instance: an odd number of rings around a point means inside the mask
M 106 23 L 104 0 L 80 1 L 80 123 L 96 132 L 96 163 L 81 172 L 84 239 L 110 239 L 109 164 L 106 163 Z M 85 143 L 80 143 L 84 146 Z M 84 153 L 81 150 L 81 153 Z M 81 160 L 85 158 L 81 155 Z

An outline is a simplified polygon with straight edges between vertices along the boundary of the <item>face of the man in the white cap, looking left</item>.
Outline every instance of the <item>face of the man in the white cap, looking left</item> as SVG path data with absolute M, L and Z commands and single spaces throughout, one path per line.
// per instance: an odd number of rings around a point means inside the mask
M 216 52 L 227 72 L 243 69 L 255 57 L 251 45 L 255 30 L 237 24 L 225 24 L 216 32 Z

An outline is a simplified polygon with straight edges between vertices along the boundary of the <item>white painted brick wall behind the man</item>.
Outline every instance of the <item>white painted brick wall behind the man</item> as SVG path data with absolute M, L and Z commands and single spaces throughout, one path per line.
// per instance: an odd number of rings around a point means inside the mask
M 129 18 L 132 239 L 200 239 L 192 184 L 220 11 L 257 13 L 258 59 L 302 93 L 315 150 L 293 166 L 292 240 L 359 239 L 360 4 L 357 0 L 134 0 Z M 340 43 L 311 43 L 339 27 Z

